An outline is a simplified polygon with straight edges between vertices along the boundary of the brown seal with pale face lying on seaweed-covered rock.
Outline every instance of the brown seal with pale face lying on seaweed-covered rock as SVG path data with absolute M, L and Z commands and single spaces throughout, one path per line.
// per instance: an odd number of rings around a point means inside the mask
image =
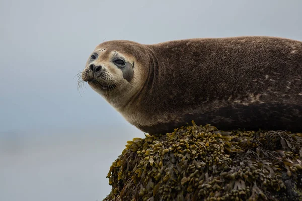
M 82 79 L 143 132 L 194 120 L 302 131 L 302 42 L 266 36 L 98 45 Z

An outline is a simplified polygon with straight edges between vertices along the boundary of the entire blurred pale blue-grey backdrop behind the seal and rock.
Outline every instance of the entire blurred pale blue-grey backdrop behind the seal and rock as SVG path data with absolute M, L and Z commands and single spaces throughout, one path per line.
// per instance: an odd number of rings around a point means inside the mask
M 144 137 L 79 70 L 104 40 L 246 35 L 302 40 L 302 1 L 0 2 L 0 200 L 102 200 L 127 140 Z M 81 96 L 80 96 L 81 94 Z

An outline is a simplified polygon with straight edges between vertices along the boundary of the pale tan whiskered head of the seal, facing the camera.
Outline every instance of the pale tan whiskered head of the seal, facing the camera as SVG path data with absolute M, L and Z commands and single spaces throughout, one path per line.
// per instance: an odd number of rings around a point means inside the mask
M 124 106 L 144 85 L 148 73 L 145 47 L 131 41 L 108 41 L 89 56 L 82 79 L 115 108 Z

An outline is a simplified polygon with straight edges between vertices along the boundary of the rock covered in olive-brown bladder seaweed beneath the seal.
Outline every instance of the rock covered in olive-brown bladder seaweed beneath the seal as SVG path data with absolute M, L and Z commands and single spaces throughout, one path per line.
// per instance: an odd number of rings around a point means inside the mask
M 104 200 L 302 200 L 302 134 L 184 126 L 128 141 Z

